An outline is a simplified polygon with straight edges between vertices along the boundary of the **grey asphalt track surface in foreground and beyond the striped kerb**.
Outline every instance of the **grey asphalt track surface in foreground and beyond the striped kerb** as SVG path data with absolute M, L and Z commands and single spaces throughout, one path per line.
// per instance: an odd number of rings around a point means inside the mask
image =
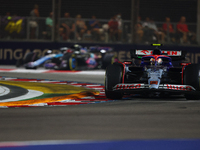
M 104 82 L 103 75 L 0 76 Z M 140 98 L 76 106 L 0 109 L 0 141 L 200 138 L 200 101 Z

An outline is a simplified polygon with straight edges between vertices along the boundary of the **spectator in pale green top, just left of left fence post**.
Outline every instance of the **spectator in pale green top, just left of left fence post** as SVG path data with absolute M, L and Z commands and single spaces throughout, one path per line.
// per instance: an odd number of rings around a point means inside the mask
M 49 16 L 46 18 L 46 32 L 47 32 L 47 39 L 51 39 L 52 36 L 52 26 L 53 26 L 53 12 L 50 12 Z

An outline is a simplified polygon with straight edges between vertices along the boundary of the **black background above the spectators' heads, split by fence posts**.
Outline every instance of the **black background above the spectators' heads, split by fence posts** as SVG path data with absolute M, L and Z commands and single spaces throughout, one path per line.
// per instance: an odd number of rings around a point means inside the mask
M 34 4 L 39 5 L 40 15 L 48 16 L 52 10 L 52 0 L 0 0 L 0 15 L 7 11 L 19 16 L 29 16 Z M 61 14 L 70 12 L 71 17 L 81 14 L 90 18 L 92 14 L 100 19 L 110 19 L 121 13 L 122 18 L 131 18 L 131 0 L 62 0 Z M 197 0 L 140 0 L 140 16 L 149 16 L 155 21 L 164 21 L 166 16 L 177 22 L 184 15 L 187 22 L 196 22 Z

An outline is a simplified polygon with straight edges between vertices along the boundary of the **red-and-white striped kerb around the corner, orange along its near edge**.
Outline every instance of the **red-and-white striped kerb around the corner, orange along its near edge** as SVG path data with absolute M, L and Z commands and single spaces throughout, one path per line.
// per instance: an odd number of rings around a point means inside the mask
M 83 104 L 94 104 L 101 102 L 113 101 L 107 99 L 104 93 L 104 86 L 101 84 L 93 83 L 79 83 L 71 81 L 52 81 L 42 79 L 17 79 L 17 78 L 6 78 L 3 80 L 7 81 L 21 81 L 21 82 L 38 82 L 48 84 L 68 84 L 71 86 L 84 87 L 86 89 L 93 89 L 95 91 L 86 91 L 71 95 L 56 96 L 52 98 L 43 99 L 32 99 L 25 101 L 15 101 L 0 103 L 0 108 L 13 108 L 13 107 L 39 107 L 39 106 L 68 106 L 68 105 L 83 105 Z

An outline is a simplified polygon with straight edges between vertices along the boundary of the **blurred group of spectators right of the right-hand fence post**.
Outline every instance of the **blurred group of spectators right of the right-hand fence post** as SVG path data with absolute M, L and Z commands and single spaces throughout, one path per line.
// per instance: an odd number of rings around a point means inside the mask
M 196 33 L 189 30 L 185 16 L 181 16 L 177 23 L 172 24 L 170 20 L 170 17 L 166 17 L 165 22 L 159 23 L 158 26 L 153 18 L 146 17 L 145 21 L 141 21 L 141 18 L 138 17 L 135 26 L 137 42 L 197 44 Z M 192 29 L 194 28 L 193 26 Z

